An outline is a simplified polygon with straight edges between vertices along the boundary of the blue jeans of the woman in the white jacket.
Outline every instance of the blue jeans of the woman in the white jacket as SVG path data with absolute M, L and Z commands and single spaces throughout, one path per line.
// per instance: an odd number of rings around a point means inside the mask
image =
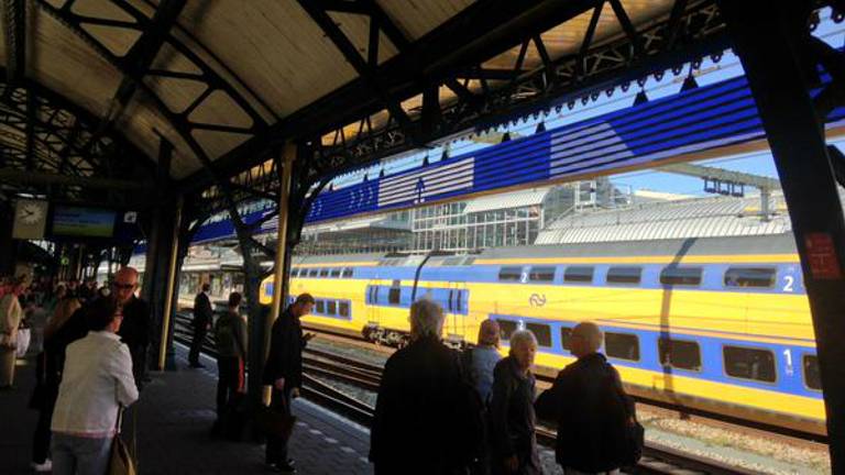
M 53 475 L 102 475 L 109 466 L 108 438 L 80 438 L 53 433 Z

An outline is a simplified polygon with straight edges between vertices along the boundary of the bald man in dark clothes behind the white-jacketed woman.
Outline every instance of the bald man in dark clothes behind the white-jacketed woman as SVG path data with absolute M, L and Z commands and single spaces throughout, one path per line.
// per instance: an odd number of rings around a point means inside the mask
M 141 388 L 146 375 L 146 347 L 150 345 L 150 306 L 135 297 L 138 290 L 138 270 L 123 267 L 114 274 L 111 281 L 111 295 L 118 301 L 123 314 L 118 335 L 132 353 L 132 374 Z

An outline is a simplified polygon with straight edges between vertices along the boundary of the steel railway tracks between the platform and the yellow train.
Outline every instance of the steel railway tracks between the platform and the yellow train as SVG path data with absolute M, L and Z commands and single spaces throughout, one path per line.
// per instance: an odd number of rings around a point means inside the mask
M 310 328 L 309 330 L 319 331 Z M 177 317 L 174 328 L 174 339 L 180 343 L 190 342 L 189 318 Z M 332 334 L 334 339 L 348 339 L 349 336 Z M 212 343 L 207 339 L 202 351 L 213 355 Z M 303 357 L 304 388 L 303 396 L 322 405 L 334 412 L 341 413 L 362 426 L 370 427 L 374 415 L 374 408 L 362 402 L 344 391 L 333 387 L 321 379 L 336 380 L 345 385 L 376 393 L 381 383 L 382 367 L 361 362 L 348 356 L 327 351 L 306 349 Z M 553 446 L 556 434 L 547 428 L 539 428 L 537 439 L 542 445 Z M 644 456 L 633 467 L 626 467 L 624 473 L 630 474 L 755 474 L 757 472 L 724 464 L 706 457 L 691 455 L 676 449 L 646 442 Z

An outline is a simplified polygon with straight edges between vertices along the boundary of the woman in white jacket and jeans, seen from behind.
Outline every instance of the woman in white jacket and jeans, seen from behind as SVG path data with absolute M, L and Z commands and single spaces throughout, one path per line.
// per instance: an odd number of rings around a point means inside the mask
M 129 347 L 116 333 L 123 317 L 113 299 L 86 311 L 88 335 L 67 346 L 53 412 L 53 473 L 102 475 L 121 406 L 138 399 Z

